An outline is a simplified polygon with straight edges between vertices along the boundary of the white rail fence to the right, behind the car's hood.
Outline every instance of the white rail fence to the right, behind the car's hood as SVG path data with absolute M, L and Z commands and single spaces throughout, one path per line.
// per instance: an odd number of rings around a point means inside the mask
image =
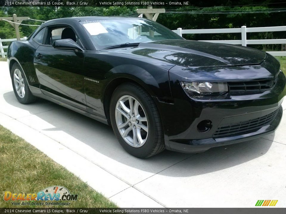
M 222 28 L 222 29 L 181 29 L 173 30 L 173 32 L 182 36 L 182 34 L 217 34 L 217 33 L 240 33 L 241 40 L 200 40 L 204 42 L 212 43 L 225 43 L 233 45 L 260 45 L 260 44 L 286 44 L 286 39 L 270 39 L 270 40 L 247 40 L 246 33 L 250 32 L 274 32 L 274 31 L 286 31 L 286 26 L 275 27 L 255 27 L 247 28 L 242 26 L 241 28 Z M 268 51 L 273 56 L 286 56 L 286 51 Z

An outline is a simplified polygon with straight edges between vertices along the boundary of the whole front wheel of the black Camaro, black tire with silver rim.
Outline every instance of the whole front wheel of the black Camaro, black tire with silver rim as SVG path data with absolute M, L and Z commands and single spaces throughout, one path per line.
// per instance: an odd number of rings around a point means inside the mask
M 165 149 L 158 109 L 142 87 L 133 83 L 119 85 L 111 97 L 110 119 L 116 138 L 131 155 L 149 158 Z M 126 134 L 126 131 L 129 132 Z

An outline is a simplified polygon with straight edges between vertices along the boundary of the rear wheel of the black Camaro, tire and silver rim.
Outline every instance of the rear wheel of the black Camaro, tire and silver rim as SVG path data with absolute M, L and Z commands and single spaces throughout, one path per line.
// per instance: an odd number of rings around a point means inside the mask
M 13 91 L 15 93 L 17 100 L 22 104 L 35 102 L 36 97 L 32 95 L 32 92 L 30 91 L 28 86 L 27 79 L 24 75 L 24 72 L 18 63 L 13 64 L 10 74 L 12 79 Z M 16 87 L 17 88 L 19 87 L 18 92 L 19 91 L 21 92 L 18 93 Z

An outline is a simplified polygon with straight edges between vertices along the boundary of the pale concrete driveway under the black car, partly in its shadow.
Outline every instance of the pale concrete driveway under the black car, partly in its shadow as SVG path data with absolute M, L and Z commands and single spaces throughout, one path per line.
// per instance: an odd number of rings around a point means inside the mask
M 20 104 L 6 62 L 0 87 L 0 124 L 120 207 L 255 207 L 257 200 L 286 207 L 286 101 L 275 134 L 141 160 L 122 149 L 107 125 L 46 100 Z

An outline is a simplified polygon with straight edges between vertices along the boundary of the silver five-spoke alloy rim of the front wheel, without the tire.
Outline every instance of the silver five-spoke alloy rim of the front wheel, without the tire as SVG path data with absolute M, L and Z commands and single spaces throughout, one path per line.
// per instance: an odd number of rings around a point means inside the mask
M 148 137 L 148 122 L 142 105 L 134 97 L 119 98 L 115 109 L 116 125 L 120 135 L 132 147 L 141 147 Z

